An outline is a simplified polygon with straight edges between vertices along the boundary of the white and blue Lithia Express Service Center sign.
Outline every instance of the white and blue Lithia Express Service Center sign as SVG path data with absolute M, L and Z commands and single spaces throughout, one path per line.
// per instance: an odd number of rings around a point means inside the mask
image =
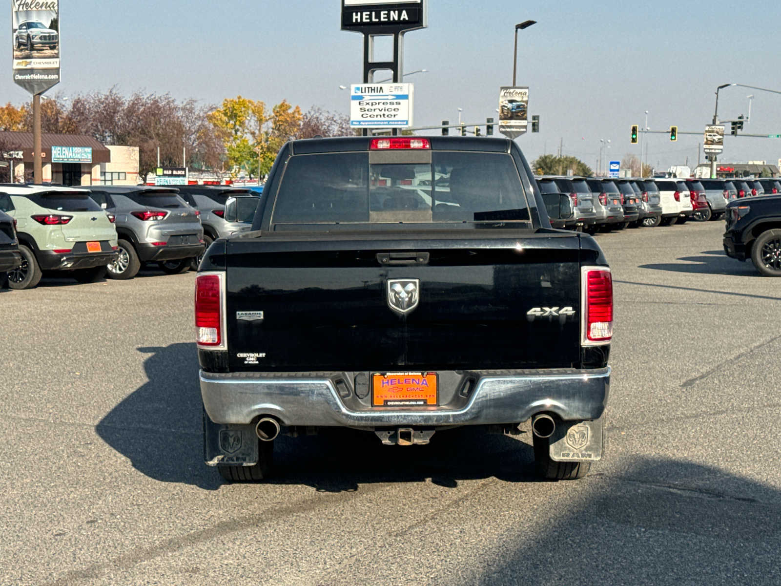
M 412 126 L 413 84 L 353 84 L 350 86 L 350 126 L 406 128 Z

